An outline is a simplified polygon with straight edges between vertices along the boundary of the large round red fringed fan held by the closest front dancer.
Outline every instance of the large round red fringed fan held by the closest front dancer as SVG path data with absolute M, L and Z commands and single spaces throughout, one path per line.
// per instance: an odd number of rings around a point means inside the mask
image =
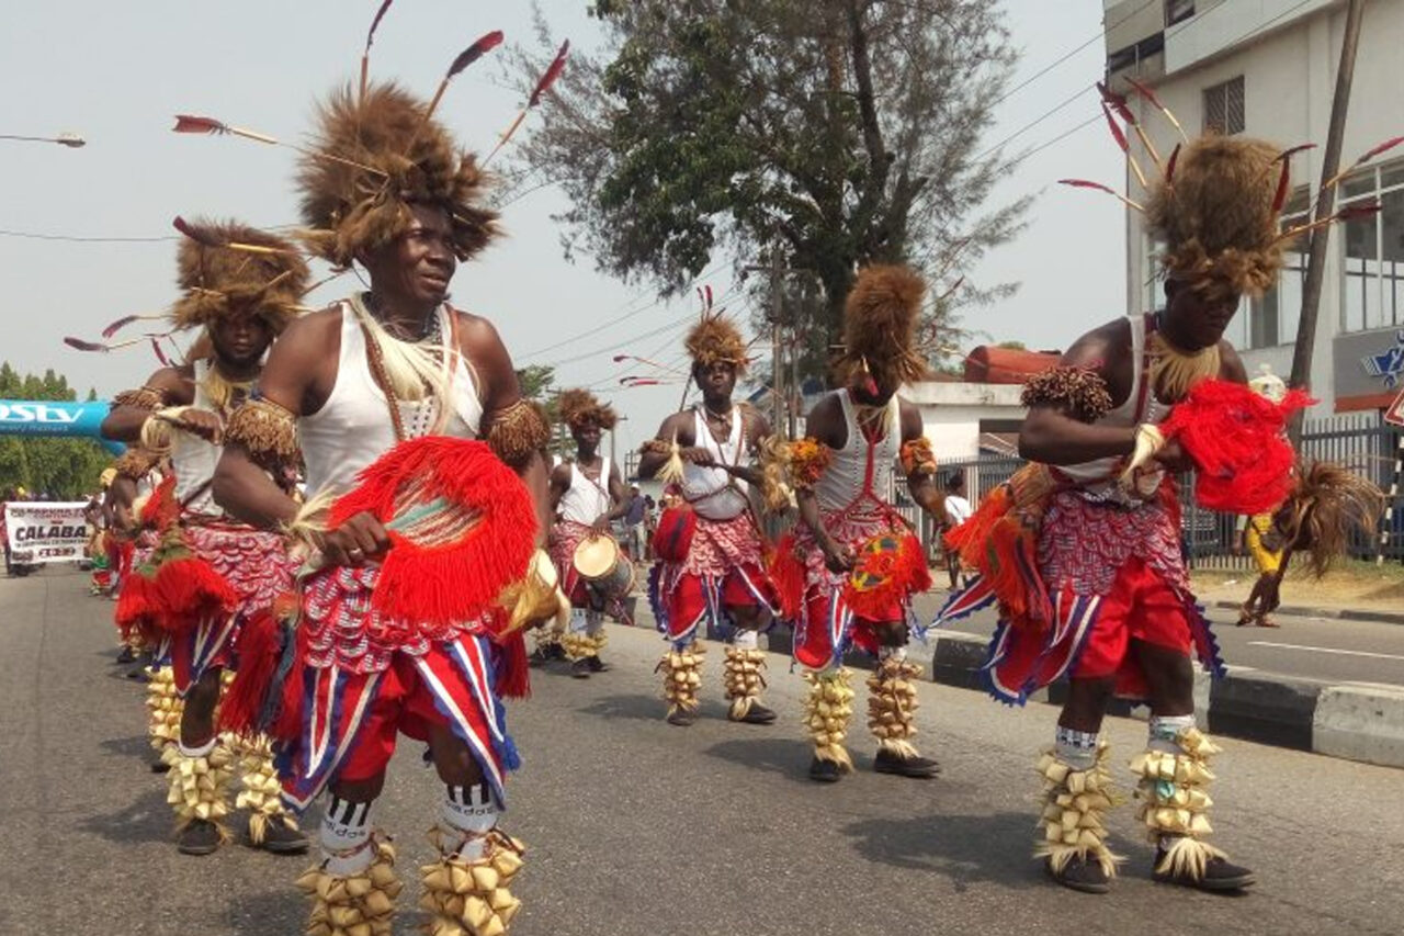
M 371 599 L 382 614 L 451 624 L 493 607 L 519 582 L 536 544 L 536 510 L 484 443 L 442 436 L 402 441 L 331 507 L 334 528 L 372 513 L 390 535 Z

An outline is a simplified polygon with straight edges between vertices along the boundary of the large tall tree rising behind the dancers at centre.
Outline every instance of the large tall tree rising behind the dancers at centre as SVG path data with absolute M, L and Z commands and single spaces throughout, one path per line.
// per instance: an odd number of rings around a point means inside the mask
M 567 257 L 663 294 L 717 254 L 778 259 L 814 285 L 795 305 L 813 374 L 859 266 L 910 263 L 942 294 L 1021 226 L 1026 201 L 983 208 L 1008 167 L 979 152 L 1015 58 L 997 4 L 597 0 L 592 14 L 604 52 L 573 53 L 518 150 L 521 184 L 570 197 Z M 518 51 L 511 69 L 525 83 L 541 56 Z M 967 281 L 932 302 L 934 344 L 958 305 L 1009 288 Z

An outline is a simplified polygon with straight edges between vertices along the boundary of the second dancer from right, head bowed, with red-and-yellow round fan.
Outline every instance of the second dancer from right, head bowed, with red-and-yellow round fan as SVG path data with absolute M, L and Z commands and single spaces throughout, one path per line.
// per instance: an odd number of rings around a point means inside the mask
M 775 580 L 795 624 L 795 659 L 813 684 L 806 727 L 814 739 L 809 776 L 834 783 L 852 769 L 844 748 L 854 691 L 842 665 L 849 642 L 879 663 L 868 680 L 868 727 L 879 773 L 929 779 L 939 767 L 917 753 L 908 631 L 911 600 L 931 587 L 921 544 L 887 500 L 900 462 L 913 499 L 945 519 L 936 461 L 921 413 L 897 396 L 927 365 L 913 349 L 925 282 L 911 270 L 872 266 L 858 274 L 844 311 L 842 389 L 814 405 L 809 437 L 789 447 L 802 526 L 782 544 Z

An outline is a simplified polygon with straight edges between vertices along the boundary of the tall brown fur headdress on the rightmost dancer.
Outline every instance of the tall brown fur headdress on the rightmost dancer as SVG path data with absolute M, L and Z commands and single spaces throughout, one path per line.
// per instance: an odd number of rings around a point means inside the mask
M 1264 141 L 1213 134 L 1181 149 L 1146 204 L 1168 273 L 1217 295 L 1257 297 L 1276 282 L 1287 246 L 1279 236 L 1280 155 Z

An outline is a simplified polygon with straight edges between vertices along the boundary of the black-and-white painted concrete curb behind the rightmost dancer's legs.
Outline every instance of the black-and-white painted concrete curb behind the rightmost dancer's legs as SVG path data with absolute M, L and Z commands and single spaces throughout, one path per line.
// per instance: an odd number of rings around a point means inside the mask
M 980 666 L 987 641 L 970 634 L 934 637 L 932 682 L 984 691 Z M 1061 704 L 1066 683 L 1053 683 L 1032 701 Z M 1254 670 L 1195 679 L 1199 722 L 1216 735 L 1309 750 L 1331 758 L 1404 767 L 1404 687 L 1323 683 Z M 1108 714 L 1144 718 L 1144 706 L 1118 700 Z

